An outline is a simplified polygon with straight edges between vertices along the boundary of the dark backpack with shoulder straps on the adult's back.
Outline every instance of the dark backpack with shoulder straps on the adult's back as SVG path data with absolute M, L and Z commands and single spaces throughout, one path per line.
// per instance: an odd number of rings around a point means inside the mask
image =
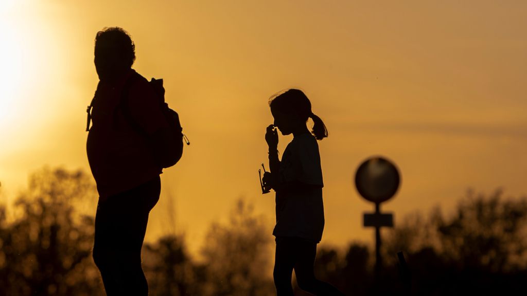
M 155 160 L 157 160 L 158 164 L 163 169 L 173 166 L 181 159 L 183 153 L 183 141 L 187 145 L 190 145 L 188 137 L 182 133 L 183 129 L 179 121 L 179 115 L 177 112 L 172 110 L 167 103 L 164 102 L 165 91 L 163 87 L 163 80 L 152 78 L 149 84 L 160 98 L 159 107 L 161 113 L 163 114 L 165 120 L 167 120 L 167 123 L 169 125 L 169 133 L 168 135 L 165 135 L 165 137 L 170 137 L 170 139 L 154 141 L 154 139 L 152 139 L 152 137 L 148 135 L 147 132 L 144 131 L 142 127 L 133 119 L 130 113 L 130 108 L 128 106 L 128 95 L 130 92 L 130 87 L 132 86 L 135 79 L 135 75 L 132 75 L 124 84 L 118 108 L 122 110 L 126 121 L 130 123 L 132 129 L 147 140 L 147 143 L 149 143 L 150 146 L 151 153 L 152 155 L 154 155 L 154 158 Z M 93 98 L 93 100 L 95 100 L 95 97 Z M 86 110 L 86 131 L 90 130 L 91 108 L 93 107 L 93 100 Z

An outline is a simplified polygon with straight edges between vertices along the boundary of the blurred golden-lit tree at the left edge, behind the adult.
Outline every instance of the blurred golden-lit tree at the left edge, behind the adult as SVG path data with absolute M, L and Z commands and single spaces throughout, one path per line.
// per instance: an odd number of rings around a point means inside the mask
M 0 285 L 6 295 L 97 295 L 91 259 L 93 218 L 76 215 L 76 200 L 95 201 L 82 171 L 45 168 L 30 177 L 14 205 L 15 220 L 0 214 Z M 0 211 L 5 213 L 5 208 Z

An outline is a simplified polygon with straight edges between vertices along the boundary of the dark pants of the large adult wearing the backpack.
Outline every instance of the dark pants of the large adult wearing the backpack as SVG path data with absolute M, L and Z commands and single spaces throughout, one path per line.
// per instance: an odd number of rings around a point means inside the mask
M 108 296 L 148 295 L 141 248 L 148 215 L 160 192 L 161 181 L 157 176 L 97 205 L 93 260 Z

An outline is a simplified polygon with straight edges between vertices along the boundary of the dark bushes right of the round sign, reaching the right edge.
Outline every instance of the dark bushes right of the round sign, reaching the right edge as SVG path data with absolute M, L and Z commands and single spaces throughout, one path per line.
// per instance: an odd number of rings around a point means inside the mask
M 525 222 L 525 197 L 469 191 L 450 216 L 435 209 L 428 219 L 412 215 L 397 226 L 385 255 L 408 254 L 416 294 L 503 294 L 527 280 Z

